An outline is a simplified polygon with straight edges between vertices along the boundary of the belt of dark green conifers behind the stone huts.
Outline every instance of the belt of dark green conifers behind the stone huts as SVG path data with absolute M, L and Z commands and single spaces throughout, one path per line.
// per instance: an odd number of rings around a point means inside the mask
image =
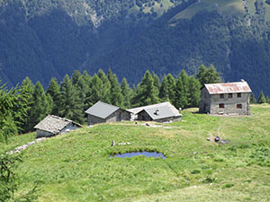
M 220 83 L 220 74 L 213 66 L 200 66 L 198 74 L 187 75 L 184 70 L 175 78 L 171 74 L 160 79 L 154 72 L 145 72 L 137 86 L 130 87 L 123 78 L 119 83 L 117 76 L 109 70 L 88 75 L 79 71 L 69 77 L 65 75 L 58 83 L 51 78 L 44 90 L 42 84 L 33 84 L 29 77 L 14 89 L 0 89 L 0 141 L 7 141 L 15 133 L 32 131 L 33 127 L 48 114 L 86 123 L 85 110 L 97 101 L 104 101 L 123 109 L 170 101 L 177 109 L 198 107 L 200 89 L 203 83 Z M 256 102 L 254 95 L 251 102 Z M 269 102 L 264 93 L 260 93 L 258 103 Z

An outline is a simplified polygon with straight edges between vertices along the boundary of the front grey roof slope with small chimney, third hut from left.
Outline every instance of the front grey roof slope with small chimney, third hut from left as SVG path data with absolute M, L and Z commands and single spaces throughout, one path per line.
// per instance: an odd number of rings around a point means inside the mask
M 172 110 L 170 110 L 167 106 L 145 109 L 145 111 L 153 120 L 175 117 L 175 113 Z M 179 116 L 181 116 L 181 114 L 179 114 Z

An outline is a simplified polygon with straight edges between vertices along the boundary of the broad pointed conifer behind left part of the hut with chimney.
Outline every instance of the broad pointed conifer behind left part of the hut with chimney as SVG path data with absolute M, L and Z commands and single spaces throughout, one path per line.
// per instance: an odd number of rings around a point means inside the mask
M 133 103 L 135 106 L 155 104 L 158 102 L 158 91 L 154 85 L 154 78 L 147 70 L 141 82 L 138 84 Z

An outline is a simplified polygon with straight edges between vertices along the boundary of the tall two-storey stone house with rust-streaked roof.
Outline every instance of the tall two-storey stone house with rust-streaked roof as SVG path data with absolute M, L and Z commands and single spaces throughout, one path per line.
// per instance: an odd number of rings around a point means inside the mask
M 201 88 L 200 112 L 250 115 L 250 88 L 244 80 L 236 83 L 210 83 Z

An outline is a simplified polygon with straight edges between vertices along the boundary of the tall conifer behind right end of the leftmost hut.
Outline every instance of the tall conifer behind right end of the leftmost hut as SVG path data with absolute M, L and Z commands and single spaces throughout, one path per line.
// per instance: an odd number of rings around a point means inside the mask
M 61 117 L 72 119 L 79 123 L 85 122 L 85 114 L 82 113 L 83 101 L 79 98 L 76 87 L 72 84 L 68 75 L 65 75 L 60 84 L 60 109 Z

